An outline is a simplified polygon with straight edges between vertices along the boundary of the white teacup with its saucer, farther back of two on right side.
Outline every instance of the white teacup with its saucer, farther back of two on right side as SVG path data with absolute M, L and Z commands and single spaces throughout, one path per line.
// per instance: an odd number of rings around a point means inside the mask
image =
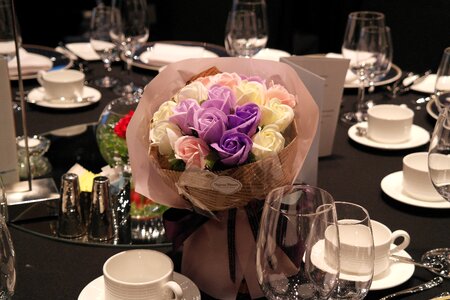
M 414 111 L 405 105 L 379 104 L 367 110 L 367 122 L 351 126 L 354 142 L 383 150 L 403 150 L 425 145 L 430 133 L 413 124 Z

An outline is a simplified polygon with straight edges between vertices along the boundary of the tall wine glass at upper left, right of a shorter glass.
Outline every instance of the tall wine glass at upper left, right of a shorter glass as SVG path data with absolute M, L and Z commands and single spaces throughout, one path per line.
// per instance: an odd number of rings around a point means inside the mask
M 111 30 L 111 38 L 119 45 L 128 75 L 130 75 L 133 54 L 149 37 L 147 1 L 113 0 L 112 7 L 119 13 L 117 18 L 113 18 L 114 26 Z M 140 89 L 142 89 L 140 86 L 130 81 L 125 85 L 116 86 L 114 92 L 132 98 L 134 93 Z

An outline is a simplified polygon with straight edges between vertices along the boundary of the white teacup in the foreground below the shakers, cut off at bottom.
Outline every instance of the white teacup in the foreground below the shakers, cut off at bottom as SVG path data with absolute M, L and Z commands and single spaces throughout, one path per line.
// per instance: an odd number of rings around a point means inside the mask
M 128 250 L 103 265 L 105 300 L 181 299 L 183 290 L 173 281 L 173 262 L 159 251 Z

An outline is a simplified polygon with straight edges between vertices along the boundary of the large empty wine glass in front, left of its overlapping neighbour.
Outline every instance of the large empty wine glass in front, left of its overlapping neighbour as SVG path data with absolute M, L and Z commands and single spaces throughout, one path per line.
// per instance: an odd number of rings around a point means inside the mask
M 327 267 L 322 262 L 325 231 L 333 227 L 337 232 L 333 197 L 326 191 L 288 185 L 268 194 L 256 243 L 257 278 L 268 299 L 331 295 L 338 280 L 339 256 Z M 339 245 L 337 234 L 329 240 Z

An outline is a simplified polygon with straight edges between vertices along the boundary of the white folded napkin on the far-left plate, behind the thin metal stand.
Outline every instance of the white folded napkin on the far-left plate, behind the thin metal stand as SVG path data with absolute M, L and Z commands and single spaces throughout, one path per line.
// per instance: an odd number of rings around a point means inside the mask
M 50 58 L 43 55 L 27 52 L 25 49 L 19 49 L 20 65 L 22 74 L 34 74 L 41 70 L 50 70 L 53 62 Z M 17 58 L 14 57 L 8 62 L 9 76 L 17 76 Z

